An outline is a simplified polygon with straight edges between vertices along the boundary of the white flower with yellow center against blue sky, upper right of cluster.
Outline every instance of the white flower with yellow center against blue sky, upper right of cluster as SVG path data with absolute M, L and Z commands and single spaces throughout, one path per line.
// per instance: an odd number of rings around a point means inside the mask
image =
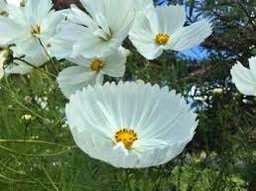
M 163 50 L 185 50 L 202 43 L 210 34 L 206 20 L 184 27 L 186 11 L 183 6 L 159 6 L 140 12 L 134 20 L 129 39 L 148 59 L 155 59 Z

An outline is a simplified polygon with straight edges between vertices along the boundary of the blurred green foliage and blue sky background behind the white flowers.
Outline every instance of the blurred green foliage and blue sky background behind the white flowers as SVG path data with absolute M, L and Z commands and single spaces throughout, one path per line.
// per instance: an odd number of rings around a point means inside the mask
M 78 0 L 54 2 L 56 9 L 79 6 Z M 256 1 L 155 2 L 169 3 L 185 5 L 186 25 L 208 18 L 212 36 L 153 61 L 126 41 L 132 54 L 124 79 L 168 85 L 186 97 L 199 125 L 184 152 L 149 169 L 116 169 L 89 158 L 73 146 L 64 118 L 67 101 L 55 79 L 34 71 L 1 82 L 0 190 L 256 190 L 256 99 L 241 95 L 229 72 L 237 60 L 248 65 L 256 55 Z M 45 69 L 58 73 L 66 64 Z

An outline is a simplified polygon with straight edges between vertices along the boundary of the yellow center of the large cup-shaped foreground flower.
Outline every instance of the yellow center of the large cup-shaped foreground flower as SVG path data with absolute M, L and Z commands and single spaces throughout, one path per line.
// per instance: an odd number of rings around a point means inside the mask
M 137 140 L 138 136 L 134 130 L 122 129 L 115 133 L 116 143 L 122 142 L 127 149 L 130 149 Z

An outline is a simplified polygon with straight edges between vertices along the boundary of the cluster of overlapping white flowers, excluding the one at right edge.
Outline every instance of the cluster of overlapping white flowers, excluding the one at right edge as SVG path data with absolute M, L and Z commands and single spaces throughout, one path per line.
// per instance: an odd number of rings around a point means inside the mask
M 155 59 L 164 50 L 202 43 L 211 24 L 203 19 L 185 27 L 183 6 L 155 7 L 152 0 L 80 2 L 84 9 L 56 11 L 52 0 L 0 0 L 0 76 L 26 74 L 53 58 L 70 61 L 57 81 L 69 99 L 65 114 L 74 142 L 117 167 L 169 161 L 192 140 L 197 125 L 185 99 L 168 87 L 104 83 L 104 76 L 123 77 L 127 39 L 146 59 Z

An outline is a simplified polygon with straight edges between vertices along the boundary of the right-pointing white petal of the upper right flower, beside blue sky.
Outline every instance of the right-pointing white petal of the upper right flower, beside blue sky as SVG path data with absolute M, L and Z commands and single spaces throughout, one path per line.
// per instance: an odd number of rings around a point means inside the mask
M 212 33 L 211 25 L 208 21 L 202 20 L 193 23 L 189 27 L 178 30 L 171 37 L 171 44 L 166 49 L 185 50 L 202 43 Z

